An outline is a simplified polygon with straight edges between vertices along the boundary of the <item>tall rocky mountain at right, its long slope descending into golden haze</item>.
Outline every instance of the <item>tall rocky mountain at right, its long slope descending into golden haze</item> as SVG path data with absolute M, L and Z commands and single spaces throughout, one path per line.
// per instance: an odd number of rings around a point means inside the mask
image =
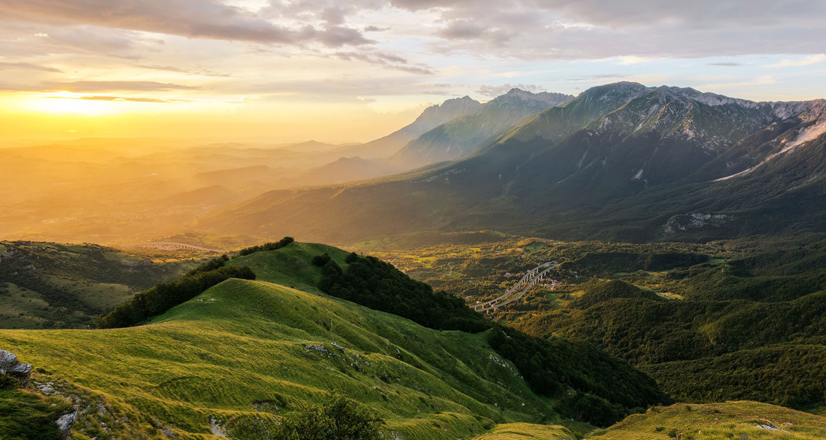
M 471 152 L 463 158 L 374 181 L 267 192 L 198 227 L 264 236 L 289 230 L 339 243 L 482 229 L 625 241 L 823 229 L 826 212 L 814 203 L 826 171 L 823 100 L 752 102 L 613 83 L 491 129 L 500 133 L 493 140 L 435 140 L 485 125 L 509 96 L 525 92 L 497 97 L 396 154 L 416 150 L 427 162 Z

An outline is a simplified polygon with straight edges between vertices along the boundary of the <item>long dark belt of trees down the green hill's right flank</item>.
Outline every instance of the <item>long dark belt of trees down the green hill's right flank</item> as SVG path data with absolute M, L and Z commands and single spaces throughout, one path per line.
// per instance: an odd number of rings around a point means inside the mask
M 561 414 L 607 426 L 631 412 L 670 402 L 648 376 L 589 343 L 531 337 L 485 319 L 458 297 L 434 292 L 377 258 L 350 254 L 346 261 L 346 271 L 335 261 L 324 264 L 321 291 L 431 329 L 491 330 L 491 348 L 514 363 L 535 393 L 558 400 Z M 588 405 L 594 409 L 584 410 Z

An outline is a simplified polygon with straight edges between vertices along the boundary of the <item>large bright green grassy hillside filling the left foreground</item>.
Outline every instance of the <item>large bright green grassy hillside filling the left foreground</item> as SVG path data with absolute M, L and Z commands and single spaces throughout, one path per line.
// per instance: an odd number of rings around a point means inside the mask
M 296 409 L 328 391 L 370 405 L 406 439 L 468 438 L 492 423 L 554 419 L 484 335 L 425 329 L 317 295 L 309 286 L 320 269 L 305 258 L 325 250 L 344 258 L 315 244 L 237 258 L 233 264 L 263 274 L 259 281 L 228 280 L 148 325 L 0 330 L 0 347 L 49 371 L 35 380 L 64 379 L 184 437 L 210 433 L 215 418 L 232 438 L 260 438 L 274 423 L 267 411 Z

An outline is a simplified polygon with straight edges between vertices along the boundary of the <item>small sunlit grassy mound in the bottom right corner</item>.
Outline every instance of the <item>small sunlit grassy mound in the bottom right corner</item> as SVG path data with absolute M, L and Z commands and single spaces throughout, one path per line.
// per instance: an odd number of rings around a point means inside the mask
M 588 437 L 589 440 L 669 438 L 819 440 L 826 438 L 826 419 L 750 401 L 680 404 L 654 407 L 648 409 L 646 414 L 629 415 L 614 426 Z

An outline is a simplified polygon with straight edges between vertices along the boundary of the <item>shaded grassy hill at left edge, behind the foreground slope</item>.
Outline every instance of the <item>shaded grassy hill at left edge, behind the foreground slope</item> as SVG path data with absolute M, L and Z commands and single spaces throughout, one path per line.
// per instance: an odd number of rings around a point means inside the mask
M 194 261 L 153 262 L 97 244 L 0 242 L 0 328 L 86 328 Z

